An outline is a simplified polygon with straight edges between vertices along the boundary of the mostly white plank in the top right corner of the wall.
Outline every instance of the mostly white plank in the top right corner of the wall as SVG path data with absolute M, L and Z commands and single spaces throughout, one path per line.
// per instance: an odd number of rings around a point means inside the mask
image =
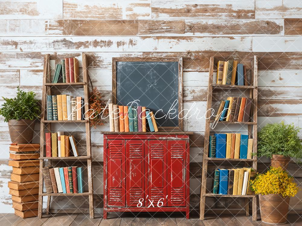
M 299 0 L 255 0 L 255 18 L 301 18 L 302 3 Z

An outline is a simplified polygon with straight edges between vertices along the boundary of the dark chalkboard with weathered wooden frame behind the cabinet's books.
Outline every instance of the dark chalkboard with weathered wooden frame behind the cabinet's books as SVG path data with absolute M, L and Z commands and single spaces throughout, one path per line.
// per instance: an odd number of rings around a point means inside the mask
M 182 131 L 182 58 L 112 58 L 112 103 L 135 100 L 153 111 L 159 131 Z

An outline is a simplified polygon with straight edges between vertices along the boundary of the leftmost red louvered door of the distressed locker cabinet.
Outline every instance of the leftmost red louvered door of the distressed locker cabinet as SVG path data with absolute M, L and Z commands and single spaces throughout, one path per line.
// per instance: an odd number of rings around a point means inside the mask
M 107 143 L 108 206 L 126 206 L 125 140 L 108 140 Z

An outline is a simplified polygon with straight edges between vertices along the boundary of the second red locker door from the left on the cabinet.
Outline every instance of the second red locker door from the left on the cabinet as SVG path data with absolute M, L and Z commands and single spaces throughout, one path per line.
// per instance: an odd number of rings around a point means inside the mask
M 145 141 L 126 140 L 126 205 L 137 206 L 145 198 Z M 144 202 L 142 206 L 144 205 Z

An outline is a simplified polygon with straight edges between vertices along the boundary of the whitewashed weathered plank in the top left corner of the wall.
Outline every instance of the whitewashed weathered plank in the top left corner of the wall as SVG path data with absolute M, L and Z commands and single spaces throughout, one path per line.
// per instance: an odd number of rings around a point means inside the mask
M 0 15 L 5 19 L 61 19 L 63 2 L 53 0 L 21 0 L 0 2 Z

